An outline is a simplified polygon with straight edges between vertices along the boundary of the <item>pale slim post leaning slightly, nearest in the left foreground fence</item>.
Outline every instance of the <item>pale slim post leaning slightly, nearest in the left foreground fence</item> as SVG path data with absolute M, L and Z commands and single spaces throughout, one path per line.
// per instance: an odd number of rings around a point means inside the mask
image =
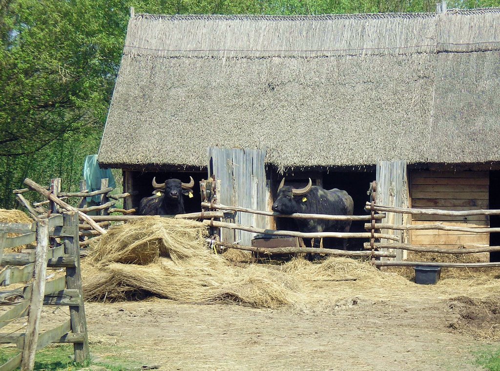
M 45 291 L 46 262 L 48 249 L 48 219 L 36 222 L 36 252 L 34 266 L 34 282 L 29 303 L 28 324 L 24 336 L 21 371 L 30 371 L 34 365 L 36 343 L 38 341 L 38 323 L 43 305 Z

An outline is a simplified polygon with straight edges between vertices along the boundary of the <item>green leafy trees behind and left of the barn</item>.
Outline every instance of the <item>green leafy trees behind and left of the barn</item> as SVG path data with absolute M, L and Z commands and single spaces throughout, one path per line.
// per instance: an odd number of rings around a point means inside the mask
M 448 8 L 500 0 L 449 0 Z M 434 12 L 430 0 L 0 0 L 0 208 L 29 177 L 78 188 L 98 150 L 129 17 Z

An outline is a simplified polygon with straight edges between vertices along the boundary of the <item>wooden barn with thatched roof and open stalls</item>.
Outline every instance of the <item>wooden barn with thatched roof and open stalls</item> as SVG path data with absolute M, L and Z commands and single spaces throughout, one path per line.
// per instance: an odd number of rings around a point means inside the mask
M 151 193 L 153 176 L 215 174 L 222 203 L 262 210 L 283 175 L 287 184 L 310 177 L 347 190 L 358 215 L 375 179 L 377 201 L 387 205 L 500 208 L 498 35 L 497 9 L 131 14 L 99 163 L 123 169 L 125 190 L 137 191 L 129 207 Z M 199 210 L 199 201 L 186 211 Z M 248 218 L 239 221 L 273 225 Z M 500 226 L 486 216 L 413 219 Z M 500 244 L 495 234 L 449 231 L 404 239 Z

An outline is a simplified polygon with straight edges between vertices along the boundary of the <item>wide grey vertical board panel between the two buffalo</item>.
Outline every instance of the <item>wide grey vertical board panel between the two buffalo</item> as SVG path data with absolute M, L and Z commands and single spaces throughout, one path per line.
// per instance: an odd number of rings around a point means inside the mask
M 211 161 L 210 161 L 211 159 Z M 219 202 L 256 210 L 267 210 L 269 191 L 266 188 L 265 151 L 258 149 L 209 148 L 208 161 L 217 179 L 221 181 Z M 236 213 L 235 222 L 257 228 L 267 228 L 266 217 Z M 255 233 L 222 229 L 224 242 L 238 242 L 250 246 Z

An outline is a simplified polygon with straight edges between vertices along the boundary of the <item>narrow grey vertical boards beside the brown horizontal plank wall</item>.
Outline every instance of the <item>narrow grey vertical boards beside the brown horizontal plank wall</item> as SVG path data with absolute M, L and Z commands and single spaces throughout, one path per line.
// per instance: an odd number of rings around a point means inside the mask
M 406 179 L 405 161 L 379 161 L 376 164 L 376 199 L 378 205 L 407 207 L 408 206 L 408 182 Z M 387 224 L 401 225 L 405 221 L 405 215 L 398 213 L 386 213 L 383 220 Z M 393 234 L 401 237 L 401 242 L 405 242 L 401 231 L 382 229 L 381 233 Z M 386 242 L 386 241 L 382 241 Z M 388 242 L 388 241 L 387 241 Z M 382 249 L 383 251 L 395 252 L 395 260 L 405 258 L 404 250 Z M 390 258 L 381 258 L 387 260 Z

